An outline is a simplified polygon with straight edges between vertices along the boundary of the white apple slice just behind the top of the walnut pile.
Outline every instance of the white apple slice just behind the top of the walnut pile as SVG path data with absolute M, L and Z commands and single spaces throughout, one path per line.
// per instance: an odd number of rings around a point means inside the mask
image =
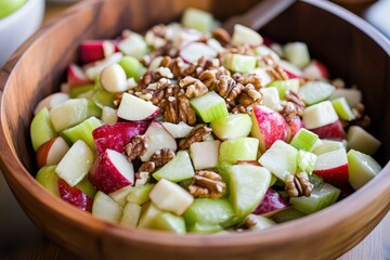
M 180 50 L 180 56 L 186 63 L 195 63 L 202 56 L 211 60 L 217 56 L 217 51 L 203 42 L 191 42 Z

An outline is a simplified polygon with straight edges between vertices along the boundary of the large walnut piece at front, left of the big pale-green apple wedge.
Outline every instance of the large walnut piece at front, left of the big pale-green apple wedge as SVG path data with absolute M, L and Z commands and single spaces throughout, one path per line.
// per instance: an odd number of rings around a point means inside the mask
M 194 184 L 188 186 L 190 193 L 194 197 L 219 198 L 226 190 L 226 184 L 220 174 L 211 170 L 196 171 Z

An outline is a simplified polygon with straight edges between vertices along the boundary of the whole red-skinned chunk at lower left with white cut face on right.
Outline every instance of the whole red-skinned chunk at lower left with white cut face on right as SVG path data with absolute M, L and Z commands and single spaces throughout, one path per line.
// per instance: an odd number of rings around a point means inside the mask
M 96 190 L 109 194 L 134 183 L 134 168 L 123 154 L 106 150 L 94 161 L 88 179 Z

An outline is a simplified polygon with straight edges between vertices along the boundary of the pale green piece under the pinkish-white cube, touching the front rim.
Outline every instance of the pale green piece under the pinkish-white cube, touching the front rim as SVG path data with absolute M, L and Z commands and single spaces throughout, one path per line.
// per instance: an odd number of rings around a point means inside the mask
M 157 214 L 151 222 L 151 227 L 181 235 L 186 233 L 184 219 L 170 212 L 161 212 Z

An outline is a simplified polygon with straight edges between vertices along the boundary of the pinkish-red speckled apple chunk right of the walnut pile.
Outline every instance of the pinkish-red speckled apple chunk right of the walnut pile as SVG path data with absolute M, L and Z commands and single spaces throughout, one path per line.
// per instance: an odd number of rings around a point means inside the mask
M 266 106 L 253 105 L 252 108 L 250 134 L 259 139 L 260 152 L 264 153 L 276 140 L 286 140 L 287 123 L 278 112 Z

